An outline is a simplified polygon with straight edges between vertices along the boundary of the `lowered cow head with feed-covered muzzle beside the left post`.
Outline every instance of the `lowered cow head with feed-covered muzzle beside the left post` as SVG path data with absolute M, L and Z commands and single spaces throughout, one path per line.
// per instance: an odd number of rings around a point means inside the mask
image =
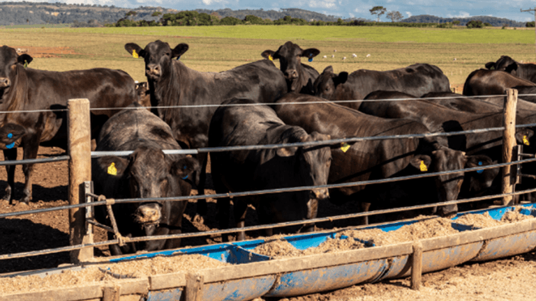
M 192 157 L 172 159 L 160 148 L 140 146 L 129 157 L 107 156 L 98 160 L 100 169 L 126 185 L 124 195 L 131 198 L 161 198 L 189 194 L 192 174 L 199 169 Z M 184 187 L 188 187 L 184 190 Z M 147 236 L 153 235 L 159 223 L 168 224 L 171 202 L 149 201 L 131 207 L 133 218 Z

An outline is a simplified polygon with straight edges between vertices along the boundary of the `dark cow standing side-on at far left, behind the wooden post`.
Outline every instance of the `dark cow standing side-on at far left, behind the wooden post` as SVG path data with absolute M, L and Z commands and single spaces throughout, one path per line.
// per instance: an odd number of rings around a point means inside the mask
M 18 55 L 15 49 L 0 49 L 0 111 L 65 109 L 73 98 L 89 99 L 91 108 L 126 107 L 137 100 L 134 80 L 121 70 L 96 68 L 52 72 L 26 68 L 32 58 Z M 93 111 L 91 134 L 98 135 L 103 123 L 117 113 L 117 109 Z M 6 160 L 17 159 L 17 146 L 24 148 L 24 159 L 37 157 L 39 144 L 66 148 L 66 112 L 31 112 L 1 114 L 0 144 L 6 144 Z M 14 144 L 13 144 L 14 143 Z M 33 164 L 22 167 L 25 176 L 22 201 L 31 200 L 31 173 Z M 8 187 L 5 198 L 13 201 L 15 166 L 6 166 Z

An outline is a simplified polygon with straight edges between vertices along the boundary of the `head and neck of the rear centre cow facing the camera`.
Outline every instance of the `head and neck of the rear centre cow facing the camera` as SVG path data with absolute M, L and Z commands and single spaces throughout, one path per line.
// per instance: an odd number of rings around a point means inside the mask
M 285 75 L 288 85 L 288 92 L 299 92 L 313 95 L 313 83 L 318 77 L 318 71 L 315 68 L 301 63 L 301 58 L 313 59 L 318 56 L 320 50 L 316 48 L 301 49 L 297 44 L 288 41 L 279 46 L 276 52 L 265 50 L 261 56 L 265 59 L 278 59 L 281 71 Z

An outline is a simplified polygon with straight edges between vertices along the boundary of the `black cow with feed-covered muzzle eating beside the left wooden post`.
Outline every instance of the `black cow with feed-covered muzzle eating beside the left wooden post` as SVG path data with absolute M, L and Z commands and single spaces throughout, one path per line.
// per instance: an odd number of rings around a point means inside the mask
M 134 151 L 128 157 L 105 156 L 91 162 L 96 194 L 107 198 L 159 198 L 188 196 L 198 161 L 184 155 L 165 155 L 163 150 L 181 149 L 170 127 L 139 104 L 110 118 L 98 137 L 96 151 Z M 121 236 L 161 236 L 181 233 L 186 201 L 147 201 L 112 205 Z M 104 206 L 96 208 L 96 218 L 110 224 Z M 108 238 L 113 238 L 108 233 Z M 113 255 L 143 249 L 154 251 L 180 246 L 180 239 L 149 240 L 124 247 L 111 245 Z

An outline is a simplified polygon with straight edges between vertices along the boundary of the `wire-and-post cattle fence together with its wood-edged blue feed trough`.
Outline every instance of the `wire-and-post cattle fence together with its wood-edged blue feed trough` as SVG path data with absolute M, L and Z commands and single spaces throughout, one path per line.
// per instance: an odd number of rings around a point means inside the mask
M 498 128 L 481 130 L 470 130 L 461 132 L 424 134 L 424 136 L 451 136 L 456 134 L 478 134 L 486 131 L 504 131 L 505 148 L 503 163 L 487 165 L 485 167 L 474 167 L 463 169 L 463 171 L 479 171 L 483 169 L 502 168 L 503 183 L 502 193 L 481 196 L 472 199 L 450 201 L 448 203 L 470 203 L 482 201 L 484 199 L 501 198 L 502 206 L 486 210 L 490 215 L 504 215 L 508 211 L 514 210 L 509 206 L 512 196 L 536 192 L 536 189 L 514 192 L 514 184 L 521 178 L 521 164 L 534 162 L 534 155 L 523 154 L 515 146 L 515 110 L 516 93 L 508 91 L 505 101 L 505 124 Z M 185 254 L 202 254 L 220 261 L 234 263 L 228 267 L 199 270 L 198 272 L 179 272 L 168 275 L 151 275 L 146 278 L 125 279 L 118 277 L 113 284 L 91 284 L 77 288 L 58 288 L 53 291 L 42 291 L 35 293 L 14 293 L 0 296 L 0 300 L 179 300 L 184 295 L 185 300 L 251 300 L 260 296 L 285 297 L 291 295 L 303 295 L 316 291 L 326 291 L 334 288 L 350 286 L 352 284 L 364 282 L 377 282 L 382 279 L 394 277 L 406 277 L 411 275 L 412 288 L 419 289 L 422 272 L 431 272 L 458 265 L 466 261 L 486 261 L 514 254 L 529 252 L 536 246 L 536 222 L 527 220 L 510 225 L 498 226 L 493 229 L 468 229 L 461 227 L 460 233 L 452 236 L 430 238 L 415 242 L 405 242 L 396 245 L 374 246 L 369 244 L 363 249 L 355 249 L 334 254 L 317 254 L 300 258 L 269 258 L 252 252 L 256 245 L 262 244 L 263 240 L 253 240 L 246 242 L 234 242 L 221 245 L 211 245 L 195 247 L 189 249 L 178 249 L 173 251 L 153 252 L 128 256 L 125 258 L 94 258 L 93 247 L 102 245 L 121 244 L 125 240 L 131 242 L 143 240 L 161 240 L 168 238 L 186 238 L 193 236 L 209 236 L 223 233 L 233 233 L 239 230 L 267 229 L 273 227 L 289 226 L 295 224 L 306 224 L 311 222 L 332 221 L 336 219 L 348 219 L 352 217 L 364 217 L 368 215 L 378 215 L 394 213 L 404 210 L 415 210 L 419 208 L 430 208 L 433 206 L 445 205 L 445 203 L 431 203 L 422 206 L 412 206 L 408 208 L 394 208 L 387 210 L 376 210 L 366 213 L 353 213 L 348 215 L 338 215 L 333 217 L 322 217 L 308 219 L 306 221 L 286 222 L 281 224 L 269 224 L 260 226 L 250 226 L 243 229 L 220 229 L 218 231 L 207 231 L 204 233 L 182 233 L 174 236 L 151 236 L 144 238 L 123 238 L 117 231 L 117 226 L 108 227 L 108 231 L 116 234 L 116 240 L 105 242 L 93 242 L 91 233 L 93 226 L 101 226 L 93 221 L 91 210 L 81 210 L 80 208 L 91 208 L 91 206 L 107 206 L 110 208 L 114 203 L 130 203 L 140 201 L 154 201 L 152 199 L 106 199 L 105 196 L 98 196 L 91 192 L 91 176 L 88 167 L 91 166 L 91 156 L 105 155 L 103 153 L 91 154 L 91 144 L 89 140 L 89 103 L 84 100 L 70 102 L 69 111 L 69 148 L 68 155 L 48 159 L 69 160 L 69 201 L 70 206 L 58 208 L 48 208 L 42 210 L 31 210 L 18 213 L 0 214 L 0 217 L 10 217 L 15 215 L 34 214 L 50 210 L 70 210 L 70 242 L 71 246 L 57 249 L 44 249 L 37 252 L 24 252 L 19 254 L 5 254 L 0 256 L 0 260 L 9 258 L 20 258 L 23 256 L 36 256 L 54 252 L 71 252 L 71 260 L 77 266 L 91 265 L 94 263 L 112 263 L 117 261 L 131 260 L 133 258 L 145 258 L 157 255 L 170 256 L 176 252 Z M 534 127 L 535 124 L 517 125 L 521 127 Z M 78 128 L 81 127 L 81 128 Z M 85 128 L 84 128 L 85 127 Z M 422 137 L 423 135 L 400 135 L 393 137 L 355 137 L 348 139 L 333 139 L 322 141 L 326 144 L 343 144 L 355 141 L 371 141 L 375 139 L 399 139 L 401 137 Z M 320 144 L 319 142 L 284 144 L 269 146 L 241 146 L 244 148 L 281 148 L 285 146 L 308 146 Z M 197 150 L 185 150 L 181 153 L 195 154 L 214 151 L 230 151 L 237 148 L 199 148 Z M 512 153 L 513 152 L 513 153 Z M 117 154 L 116 154 L 117 155 Z M 127 155 L 127 154 L 119 154 Z M 521 159 L 522 157 L 529 157 Z M 26 164 L 31 162 L 44 162 L 44 160 L 31 161 L 23 160 L 17 162 L 2 162 L 6 164 Z M 88 163 L 89 162 L 89 163 Z M 512 169 L 511 167 L 514 166 Z M 508 170 L 509 169 L 509 170 Z M 323 185 L 322 188 L 345 187 L 352 185 L 369 185 L 375 183 L 387 183 L 394 180 L 405 180 L 409 178 L 424 178 L 438 176 L 439 174 L 455 173 L 456 171 L 442 171 L 439 173 L 426 173 L 417 176 L 406 176 L 401 178 L 388 178 L 385 180 L 371 180 L 366 182 L 343 183 L 334 185 Z M 229 194 L 212 194 L 199 196 L 182 196 L 161 199 L 163 201 L 188 201 L 190 199 L 214 198 L 224 196 L 245 196 L 251 194 L 281 193 L 297 190 L 311 190 L 313 187 L 292 187 L 278 190 L 262 190 L 254 192 L 240 192 Z M 525 204 L 521 207 L 526 215 L 535 215 L 532 204 Z M 109 210 L 112 215 L 111 210 Z M 460 216 L 463 213 L 460 214 Z M 377 227 L 381 229 L 396 228 L 402 224 L 412 222 L 396 222 L 382 224 Z M 352 227 L 353 229 L 364 228 L 364 226 Z M 296 245 L 311 247 L 318 245 L 329 237 L 336 238 L 337 231 L 326 231 L 322 233 L 305 234 L 298 236 L 285 236 Z M 57 271 L 67 268 L 58 268 Z M 71 268 L 72 269 L 72 268 Z M 52 273 L 53 271 L 37 271 Z M 32 272 L 32 273 L 37 273 Z M 13 275 L 9 275 L 13 276 Z M 253 289 L 254 288 L 254 289 Z M 84 297 L 81 298 L 80 296 Z M 128 299 L 130 298 L 130 299 Z M 137 299 L 136 299 L 137 298 Z

